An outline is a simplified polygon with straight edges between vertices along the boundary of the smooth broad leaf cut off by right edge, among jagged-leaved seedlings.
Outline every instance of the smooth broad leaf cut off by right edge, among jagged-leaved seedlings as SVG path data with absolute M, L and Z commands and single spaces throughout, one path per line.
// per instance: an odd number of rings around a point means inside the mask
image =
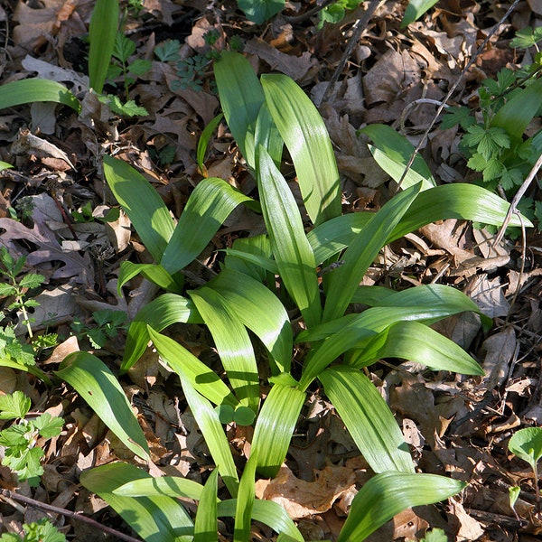
M 535 79 L 526 89 L 520 89 L 500 107 L 491 126 L 500 126 L 514 140 L 519 142 L 529 122 L 537 114 L 542 95 L 542 79 Z

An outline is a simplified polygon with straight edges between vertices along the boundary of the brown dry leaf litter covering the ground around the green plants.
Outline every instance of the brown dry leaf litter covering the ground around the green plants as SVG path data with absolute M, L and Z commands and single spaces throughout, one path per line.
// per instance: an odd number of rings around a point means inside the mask
M 111 368 L 118 367 L 126 331 L 117 330 L 117 336 L 96 349 L 84 326 L 96 328 L 92 313 L 102 309 L 125 312 L 131 319 L 155 291 L 145 282 L 132 281 L 125 288 L 126 296 L 117 296 L 121 261 L 137 261 L 145 255 L 126 222 L 106 225 L 93 219 L 116 205 L 106 188 L 100 156 L 115 154 L 145 173 L 179 217 L 201 180 L 196 164 L 199 136 L 220 110 L 206 54 L 210 47 L 220 50 L 240 43 L 258 74 L 278 71 L 292 77 L 318 104 L 332 137 L 344 210 L 378 210 L 388 201 L 393 183 L 356 131 L 367 124 L 388 124 L 416 145 L 435 117 L 435 102 L 458 79 L 450 103 L 476 110 L 481 81 L 525 61 L 525 51 L 509 46 L 516 31 L 542 24 L 542 2 L 519 2 L 463 74 L 463 66 L 509 3 L 443 0 L 420 21 L 401 28 L 406 2 L 383 2 L 363 29 L 331 97 L 322 101 L 363 6 L 347 13 L 340 23 L 324 24 L 319 30 L 318 17 L 308 14 L 314 2 L 288 2 L 282 14 L 257 25 L 247 21 L 235 2 L 144 0 L 138 11 L 127 11 L 125 33 L 136 45 L 133 59 L 151 61 L 151 69 L 129 89 L 129 98 L 145 107 L 148 115 L 118 117 L 89 93 L 86 35 L 93 5 L 92 0 L 0 3 L 0 85 L 35 76 L 54 79 L 67 84 L 83 103 L 79 116 L 51 104 L 0 111 L 0 160 L 14 165 L 0 172 L 0 245 L 14 256 L 27 257 L 27 272 L 45 277 L 34 295 L 40 305 L 33 312 L 33 331 L 58 333 L 60 345 L 52 353 L 44 350 L 40 360 L 44 370 L 54 369 L 77 348 L 94 351 Z M 205 38 L 209 33 L 214 36 L 212 45 Z M 167 46 L 173 56 L 180 55 L 180 64 L 160 61 L 155 55 L 155 47 L 168 40 L 179 41 Z M 114 81 L 107 90 L 125 98 L 122 85 L 116 87 Z M 529 129 L 535 133 L 539 127 L 540 120 L 535 119 Z M 429 133 L 422 154 L 439 183 L 480 177 L 467 168 L 458 146 L 461 134 L 458 126 L 441 129 L 440 121 Z M 210 175 L 229 180 L 243 192 L 254 190 L 227 126 L 220 125 L 211 140 L 205 164 Z M 529 195 L 539 200 L 536 184 Z M 22 219 L 29 204 L 32 219 Z M 14 212 L 19 221 L 13 220 Z M 189 282 L 208 280 L 210 269 L 220 261 L 217 250 L 259 226 L 248 214 L 234 215 L 200 263 L 189 268 Z M 47 235 L 38 238 L 38 231 Z M 532 472 L 507 447 L 519 428 L 542 425 L 542 237 L 532 230 L 525 238 L 504 238 L 494 248 L 488 238 L 491 241 L 487 231 L 445 220 L 386 248 L 366 277 L 367 284 L 396 288 L 435 280 L 453 285 L 469 294 L 494 322 L 484 333 L 479 320 L 461 314 L 439 327 L 480 361 L 486 371 L 483 378 L 444 371 L 422 376 L 408 364 L 370 368 L 419 468 L 470 482 L 460 497 L 399 514 L 369 537 L 371 541 L 416 539 L 428 527 L 445 528 L 457 540 L 528 542 L 542 536 Z M 18 319 L 6 312 L 3 325 L 16 324 L 23 336 Z M 74 322 L 82 322 L 83 331 Z M 210 338 L 198 326 L 182 333 L 192 352 L 202 359 L 212 355 Z M 209 457 L 190 412 L 183 411 L 178 401 L 175 375 L 165 372 L 149 350 L 122 384 L 153 443 L 155 463 L 164 472 L 201 481 Z M 112 444 L 98 417 L 69 387 L 47 388 L 26 373 L 0 368 L 0 392 L 15 389 L 31 397 L 35 408 L 66 422 L 62 434 L 45 449 L 41 484 L 37 488 L 22 484 L 18 491 L 129 533 L 104 501 L 79 485 L 79 472 L 117 458 L 132 461 L 132 456 L 123 456 L 122 449 Z M 311 415 L 300 425 L 300 436 L 288 453 L 291 493 L 283 495 L 282 504 L 307 539 L 333 539 L 365 463 L 316 389 L 310 402 Z M 175 431 L 180 419 L 186 435 Z M 229 436 L 242 451 L 249 435 L 232 429 Z M 2 467 L 0 476 L 5 487 L 14 487 L 8 469 Z M 509 488 L 516 485 L 521 487 L 517 514 L 509 504 Z M 266 491 L 266 498 L 273 497 L 272 482 L 262 481 L 258 488 Z M 8 503 L 0 504 L 0 513 L 2 528 L 9 530 L 43 514 L 32 507 L 14 509 Z M 60 517 L 57 524 L 69 539 L 106 539 L 76 519 Z M 222 527 L 226 540 L 228 526 Z M 272 533 L 255 526 L 254 539 L 269 540 Z

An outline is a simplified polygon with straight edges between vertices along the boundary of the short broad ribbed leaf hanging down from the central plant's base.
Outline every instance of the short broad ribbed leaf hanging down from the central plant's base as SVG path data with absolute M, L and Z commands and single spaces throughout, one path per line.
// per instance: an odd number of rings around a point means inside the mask
M 276 384 L 262 406 L 252 438 L 257 453 L 257 472 L 273 478 L 285 461 L 305 394 L 297 388 Z

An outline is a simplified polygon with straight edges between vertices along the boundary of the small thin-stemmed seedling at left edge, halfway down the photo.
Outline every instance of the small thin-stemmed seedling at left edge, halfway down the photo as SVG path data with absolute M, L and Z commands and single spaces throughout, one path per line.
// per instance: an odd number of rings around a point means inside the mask
M 14 296 L 14 302 L 7 307 L 8 311 L 21 310 L 23 313 L 23 323 L 26 325 L 28 334 L 33 336 L 31 322 L 27 309 L 38 306 L 39 303 L 33 299 L 26 299 L 26 292 L 43 284 L 45 277 L 37 273 L 27 273 L 21 279 L 17 276 L 23 271 L 25 257 L 14 258 L 7 251 L 7 248 L 0 248 L 0 276 L 3 276 L 6 282 L 0 283 L 0 297 Z

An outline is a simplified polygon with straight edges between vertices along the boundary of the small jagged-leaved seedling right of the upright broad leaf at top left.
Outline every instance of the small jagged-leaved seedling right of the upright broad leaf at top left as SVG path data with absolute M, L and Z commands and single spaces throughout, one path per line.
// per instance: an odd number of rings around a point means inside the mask
M 135 80 L 151 69 L 151 62 L 145 59 L 130 61 L 134 53 L 135 42 L 130 40 L 124 33 L 117 32 L 106 78 L 109 81 L 117 78 L 122 79 L 125 101 L 121 100 L 115 94 L 105 94 L 98 98 L 102 103 L 107 104 L 111 108 L 111 111 L 122 117 L 148 115 L 145 107 L 138 106 L 135 100 L 129 98 L 129 90 L 135 83 Z

